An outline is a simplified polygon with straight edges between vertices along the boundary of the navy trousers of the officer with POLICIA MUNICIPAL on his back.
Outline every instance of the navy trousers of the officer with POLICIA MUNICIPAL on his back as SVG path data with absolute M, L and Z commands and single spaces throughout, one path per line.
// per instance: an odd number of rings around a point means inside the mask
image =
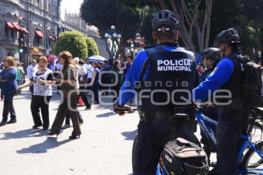
M 169 141 L 171 125 L 166 118 L 153 119 L 150 123 L 140 122 L 138 141 L 134 153 L 136 175 L 154 175 L 164 145 Z M 176 129 L 176 138 L 181 137 L 200 144 L 189 122 Z

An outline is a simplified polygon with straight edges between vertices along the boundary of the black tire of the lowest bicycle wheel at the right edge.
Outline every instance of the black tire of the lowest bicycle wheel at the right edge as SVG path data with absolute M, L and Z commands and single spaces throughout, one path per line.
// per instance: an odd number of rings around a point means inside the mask
M 255 144 L 255 147 L 256 147 L 258 150 L 259 150 L 259 149 L 263 150 L 263 141 Z M 243 158 L 243 160 L 242 160 L 242 162 L 241 162 L 241 167 L 240 167 L 240 168 L 241 168 L 242 170 L 246 170 L 246 169 L 248 169 L 248 168 L 257 168 L 256 166 L 253 166 L 253 165 L 248 166 L 249 160 L 250 160 L 250 158 L 252 157 L 252 155 L 253 155 L 254 153 L 256 153 L 256 152 L 255 152 L 252 148 L 249 148 L 248 152 L 246 152 L 246 154 L 245 154 L 245 156 L 244 156 L 244 158 Z M 263 160 L 261 159 L 261 160 L 257 161 L 256 164 L 263 164 Z

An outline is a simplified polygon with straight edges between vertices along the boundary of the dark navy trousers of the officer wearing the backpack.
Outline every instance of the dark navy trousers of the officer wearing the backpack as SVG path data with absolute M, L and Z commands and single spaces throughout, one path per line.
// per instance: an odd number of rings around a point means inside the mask
M 217 125 L 217 158 L 224 175 L 237 175 L 238 152 L 242 145 L 242 132 L 247 129 L 246 109 L 219 106 Z

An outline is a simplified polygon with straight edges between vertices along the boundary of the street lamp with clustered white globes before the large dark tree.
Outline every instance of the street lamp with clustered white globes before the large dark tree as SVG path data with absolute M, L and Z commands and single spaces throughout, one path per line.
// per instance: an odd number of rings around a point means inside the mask
M 119 45 L 122 35 L 115 28 L 114 25 L 110 26 L 110 29 L 106 31 L 105 38 L 111 40 L 111 49 L 110 49 L 110 58 L 114 59 L 114 56 L 117 54 L 117 46 Z

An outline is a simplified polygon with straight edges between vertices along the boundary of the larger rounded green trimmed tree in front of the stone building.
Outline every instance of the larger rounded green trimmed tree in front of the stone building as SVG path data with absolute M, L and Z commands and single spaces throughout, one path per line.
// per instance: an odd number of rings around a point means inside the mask
M 73 58 L 87 58 L 88 49 L 85 37 L 77 31 L 63 32 L 58 36 L 59 52 L 64 50 L 69 51 Z M 58 42 L 54 45 L 54 53 L 58 55 Z

